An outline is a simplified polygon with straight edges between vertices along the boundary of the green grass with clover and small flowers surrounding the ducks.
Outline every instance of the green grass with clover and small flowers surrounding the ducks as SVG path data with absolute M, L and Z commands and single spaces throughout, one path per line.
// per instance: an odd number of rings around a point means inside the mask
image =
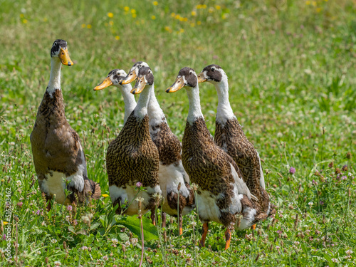
M 168 244 L 162 229 L 159 240 L 145 241 L 144 266 L 355 265 L 355 252 L 348 254 L 356 251 L 355 1 L 169 0 L 155 6 L 138 0 L 0 0 L 0 5 L 0 211 L 6 221 L 9 188 L 13 266 L 140 262 L 135 234 L 120 225 L 110 228 L 110 198 L 72 211 L 60 205 L 44 210 L 29 135 L 56 38 L 68 41 L 75 63 L 62 68 L 66 117 L 83 142 L 90 179 L 100 182 L 103 194 L 108 194 L 105 150 L 122 128 L 123 101 L 115 88 L 93 88 L 113 68 L 127 71 L 134 61 L 154 70 L 157 99 L 180 140 L 187 95 L 164 89 L 184 66 L 200 72 L 219 64 L 229 76 L 236 117 L 263 159 L 267 191 L 278 206 L 275 219 L 261 222 L 254 236 L 251 230 L 235 232 L 229 251 L 222 251 L 221 225 L 211 224 L 206 248 L 198 248 L 197 214 L 184 217 L 182 237 L 173 218 Z M 204 83 L 201 107 L 212 134 L 216 105 L 214 86 Z M 90 224 L 85 214 L 93 214 Z M 6 234 L 5 226 L 1 231 Z M 2 240 L 1 248 L 7 244 Z M 4 253 L 1 265 L 8 266 Z

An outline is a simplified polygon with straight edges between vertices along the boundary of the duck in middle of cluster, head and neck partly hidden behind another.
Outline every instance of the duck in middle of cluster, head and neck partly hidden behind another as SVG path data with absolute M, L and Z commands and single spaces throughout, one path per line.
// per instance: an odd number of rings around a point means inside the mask
M 149 68 L 143 61 L 135 63 L 122 85 L 130 84 L 137 78 L 140 68 Z M 162 208 L 162 227 L 166 227 L 166 214 L 178 217 L 179 235 L 183 234 L 183 216 L 195 208 L 194 192 L 182 164 L 182 143 L 169 128 L 167 119 L 155 96 L 154 85 L 148 103 L 150 135 L 159 152 L 159 187 L 164 199 Z M 164 239 L 167 236 L 164 232 Z

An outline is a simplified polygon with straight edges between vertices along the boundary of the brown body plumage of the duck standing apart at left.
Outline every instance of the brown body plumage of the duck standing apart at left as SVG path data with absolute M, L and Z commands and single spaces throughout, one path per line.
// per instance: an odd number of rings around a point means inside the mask
M 62 173 L 63 177 L 71 177 L 78 172 L 78 166 L 83 166 L 84 169 L 81 177 L 84 187 L 78 189 L 75 184 L 68 184 L 67 189 L 72 194 L 68 196 L 65 203 L 76 202 L 76 198 L 79 203 L 83 203 L 88 195 L 95 199 L 100 197 L 99 184 L 88 179 L 85 155 L 79 136 L 66 120 L 61 90 L 55 90 L 52 95 L 48 92 L 44 94 L 30 140 L 38 184 L 46 193 L 46 199 L 53 197 L 53 192 L 43 187 L 48 179 L 46 176 L 53 177 L 53 172 L 58 172 Z M 58 184 L 61 182 L 58 181 Z M 61 204 L 63 201 L 64 199 L 60 200 Z

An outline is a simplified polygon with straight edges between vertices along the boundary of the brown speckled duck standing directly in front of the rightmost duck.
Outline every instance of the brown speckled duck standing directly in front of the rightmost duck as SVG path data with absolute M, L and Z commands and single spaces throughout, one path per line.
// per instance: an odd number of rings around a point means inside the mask
M 185 88 L 189 99 L 189 112 L 182 140 L 183 167 L 189 179 L 197 186 L 197 211 L 203 223 L 200 246 L 205 246 L 209 221 L 226 227 L 225 249 L 231 243 L 231 231 L 246 229 L 256 222 L 257 198 L 251 194 L 242 179 L 239 167 L 221 149 L 206 127 L 201 112 L 199 84 L 194 69 L 179 70 L 173 85 L 167 93 Z

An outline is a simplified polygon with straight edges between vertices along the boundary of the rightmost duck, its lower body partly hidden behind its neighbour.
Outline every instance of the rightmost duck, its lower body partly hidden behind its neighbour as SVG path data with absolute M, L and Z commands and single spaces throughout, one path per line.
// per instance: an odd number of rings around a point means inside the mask
M 266 219 L 276 211 L 266 192 L 260 155 L 244 134 L 231 108 L 228 77 L 219 65 L 211 64 L 198 75 L 198 83 L 204 82 L 215 85 L 218 94 L 214 141 L 234 159 L 251 194 L 258 198 L 256 204 L 261 210 L 259 218 Z M 255 228 L 256 225 L 253 225 Z

